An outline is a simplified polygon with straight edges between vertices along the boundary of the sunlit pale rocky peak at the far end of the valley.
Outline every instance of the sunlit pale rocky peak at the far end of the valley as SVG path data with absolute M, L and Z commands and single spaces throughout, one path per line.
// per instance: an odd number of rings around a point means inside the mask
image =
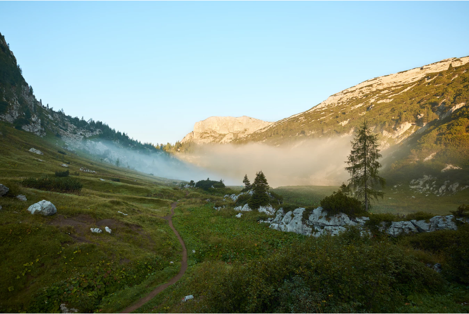
M 193 132 L 186 135 L 181 143 L 229 143 L 271 124 L 272 122 L 246 115 L 240 117 L 211 116 L 203 121 L 195 122 Z

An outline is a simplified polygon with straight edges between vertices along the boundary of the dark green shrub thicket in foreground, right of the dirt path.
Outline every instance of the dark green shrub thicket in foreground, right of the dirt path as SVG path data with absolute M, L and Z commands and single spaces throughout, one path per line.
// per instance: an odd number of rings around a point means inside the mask
M 349 232 L 233 265 L 194 295 L 213 313 L 386 313 L 413 292 L 444 288 L 440 274 L 400 247 Z

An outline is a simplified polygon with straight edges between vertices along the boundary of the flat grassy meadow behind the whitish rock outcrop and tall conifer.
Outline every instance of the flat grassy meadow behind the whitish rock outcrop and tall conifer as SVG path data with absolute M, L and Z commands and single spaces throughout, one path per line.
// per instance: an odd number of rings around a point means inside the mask
M 283 196 L 285 202 L 298 206 L 319 206 L 322 198 L 338 190 L 338 186 L 282 186 L 273 189 Z M 461 204 L 469 203 L 469 189 L 454 195 L 436 196 L 414 193 L 408 186 L 387 186 L 382 200 L 372 203 L 373 213 L 395 213 L 407 215 L 423 211 L 435 215 L 449 215 Z

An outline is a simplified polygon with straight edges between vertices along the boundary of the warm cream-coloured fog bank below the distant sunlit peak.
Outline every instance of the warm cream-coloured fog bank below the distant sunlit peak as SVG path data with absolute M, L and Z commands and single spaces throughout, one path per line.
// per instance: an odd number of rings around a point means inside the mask
M 178 158 L 220 173 L 226 185 L 242 185 L 247 173 L 251 183 L 262 170 L 271 187 L 286 185 L 340 185 L 349 178 L 344 170 L 352 137 L 311 139 L 294 146 L 265 144 L 200 146 Z

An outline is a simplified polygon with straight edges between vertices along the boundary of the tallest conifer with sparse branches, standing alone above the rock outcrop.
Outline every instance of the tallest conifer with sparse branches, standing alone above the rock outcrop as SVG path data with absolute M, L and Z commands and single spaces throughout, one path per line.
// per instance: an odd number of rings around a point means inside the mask
M 368 210 L 369 201 L 383 198 L 383 193 L 375 190 L 374 185 L 379 184 L 384 188 L 386 180 L 378 175 L 381 158 L 378 149 L 378 135 L 372 134 L 365 120 L 352 141 L 352 151 L 346 162 L 349 167 L 345 170 L 350 173 L 349 186 L 355 191 L 355 197 L 364 202 L 365 210 Z

